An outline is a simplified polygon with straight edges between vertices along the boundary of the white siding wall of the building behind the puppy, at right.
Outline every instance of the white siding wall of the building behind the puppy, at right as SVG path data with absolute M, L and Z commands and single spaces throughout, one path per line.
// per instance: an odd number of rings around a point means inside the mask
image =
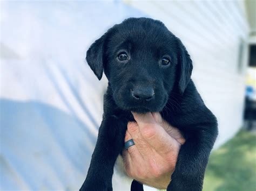
M 243 1 L 126 1 L 159 19 L 183 41 L 190 53 L 192 79 L 207 107 L 218 118 L 226 142 L 242 126 L 244 69 L 238 71 L 239 45 L 247 40 Z M 245 46 L 246 47 L 246 46 Z M 243 67 L 246 65 L 244 50 Z

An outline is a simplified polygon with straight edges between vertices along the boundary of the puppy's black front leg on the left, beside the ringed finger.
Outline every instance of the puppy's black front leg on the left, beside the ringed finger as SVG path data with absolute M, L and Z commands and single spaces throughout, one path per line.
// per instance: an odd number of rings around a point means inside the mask
M 105 118 L 99 128 L 98 139 L 91 164 L 80 191 L 112 191 L 113 167 L 124 147 L 127 122 Z

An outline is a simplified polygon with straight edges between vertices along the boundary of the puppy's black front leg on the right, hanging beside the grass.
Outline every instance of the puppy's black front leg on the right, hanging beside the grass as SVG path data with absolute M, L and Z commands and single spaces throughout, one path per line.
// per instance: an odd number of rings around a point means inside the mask
M 190 132 L 192 136 L 188 137 L 180 148 L 176 168 L 167 191 L 201 191 L 203 189 L 205 168 L 217 133 L 216 126 Z

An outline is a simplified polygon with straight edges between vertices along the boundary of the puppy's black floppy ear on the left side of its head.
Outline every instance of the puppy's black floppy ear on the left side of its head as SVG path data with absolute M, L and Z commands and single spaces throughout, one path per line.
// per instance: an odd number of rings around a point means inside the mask
M 103 74 L 105 36 L 96 40 L 86 52 L 86 61 L 99 80 Z

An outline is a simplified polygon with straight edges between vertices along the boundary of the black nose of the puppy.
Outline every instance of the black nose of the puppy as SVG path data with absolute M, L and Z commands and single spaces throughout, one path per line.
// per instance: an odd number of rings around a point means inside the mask
M 154 97 L 154 89 L 150 87 L 136 87 L 131 90 L 132 97 L 136 100 L 150 101 Z

